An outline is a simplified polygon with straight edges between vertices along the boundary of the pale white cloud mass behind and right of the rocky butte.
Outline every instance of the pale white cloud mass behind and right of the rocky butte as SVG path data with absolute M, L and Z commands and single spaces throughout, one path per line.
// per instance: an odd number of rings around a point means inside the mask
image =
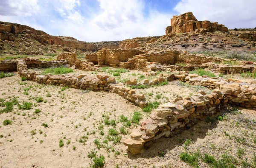
M 256 0 L 181 0 L 175 10 L 192 11 L 198 20 L 221 23 L 227 28 L 254 28 Z

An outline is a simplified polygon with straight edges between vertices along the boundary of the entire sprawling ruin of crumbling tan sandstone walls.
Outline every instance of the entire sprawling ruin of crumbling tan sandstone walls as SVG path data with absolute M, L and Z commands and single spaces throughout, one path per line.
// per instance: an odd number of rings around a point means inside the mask
M 91 60 L 98 62 L 94 65 Z M 97 60 L 97 61 L 96 61 Z M 236 61 L 241 65 L 230 66 L 219 64 L 221 61 Z M 187 65 L 175 65 L 175 63 Z M 144 108 L 148 105 L 145 96 L 136 93 L 127 87 L 137 84 L 137 80 L 130 79 L 126 84 L 117 84 L 115 78 L 105 74 L 88 76 L 73 75 L 40 75 L 28 68 L 52 67 L 69 64 L 73 68 L 86 71 L 100 71 L 99 66 L 109 65 L 131 70 L 144 70 L 148 75 L 154 75 L 154 71 L 161 70 L 172 72 L 182 70 L 178 74 L 160 74 L 159 78 L 151 81 L 144 79 L 140 84 L 159 84 L 162 81 L 178 80 L 191 85 L 207 87 L 212 90 L 206 93 L 199 90 L 192 97 L 177 96 L 166 104 L 161 104 L 155 109 L 149 118 L 143 121 L 140 128 L 130 134 L 131 138 L 123 143 L 131 154 L 141 154 L 160 137 L 170 137 L 183 129 L 188 129 L 203 118 L 216 115 L 222 106 L 233 104 L 248 109 L 256 109 L 256 82 L 242 82 L 230 78 L 224 80 L 221 77 L 210 78 L 189 74 L 188 71 L 196 68 L 209 69 L 218 73 L 242 73 L 255 72 L 256 62 L 237 59 L 222 59 L 219 57 L 198 56 L 180 50 L 145 50 L 145 49 L 102 49 L 97 53 L 87 54 L 86 60 L 77 59 L 75 53 L 61 53 L 57 61 L 41 61 L 38 59 L 14 59 L 0 61 L 0 71 L 17 71 L 19 76 L 39 84 L 52 84 L 61 87 L 68 86 L 80 90 L 114 92 L 128 101 Z M 165 65 L 163 65 L 165 64 Z

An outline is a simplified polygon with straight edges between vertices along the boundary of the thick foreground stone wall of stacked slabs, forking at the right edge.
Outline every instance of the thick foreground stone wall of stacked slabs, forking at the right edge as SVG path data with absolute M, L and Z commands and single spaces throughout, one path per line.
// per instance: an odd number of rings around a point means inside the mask
M 188 129 L 199 120 L 215 115 L 221 106 L 235 104 L 246 108 L 256 108 L 256 85 L 242 83 L 237 79 L 203 78 L 197 74 L 175 75 L 175 79 L 191 85 L 212 89 L 207 94 L 199 90 L 192 97 L 177 96 L 172 101 L 160 105 L 150 118 L 140 124 L 140 128 L 130 134 L 123 143 L 131 154 L 141 154 L 160 137 L 170 137 L 181 129 Z

